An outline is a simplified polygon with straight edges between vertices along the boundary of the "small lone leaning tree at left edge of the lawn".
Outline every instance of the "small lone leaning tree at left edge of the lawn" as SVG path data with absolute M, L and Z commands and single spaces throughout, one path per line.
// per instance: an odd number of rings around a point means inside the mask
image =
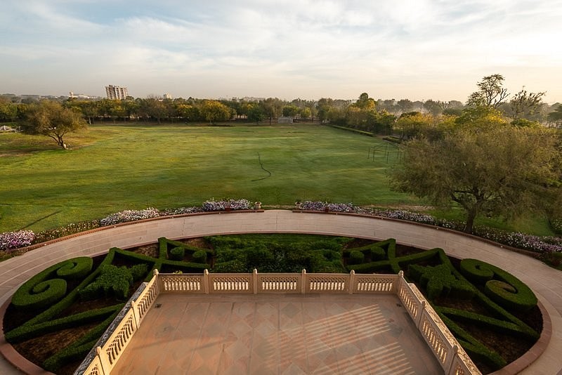
M 86 121 L 79 111 L 65 108 L 58 102 L 41 100 L 39 104 L 30 106 L 23 130 L 26 133 L 51 137 L 66 150 L 67 145 L 64 140 L 66 134 L 84 129 L 86 126 Z

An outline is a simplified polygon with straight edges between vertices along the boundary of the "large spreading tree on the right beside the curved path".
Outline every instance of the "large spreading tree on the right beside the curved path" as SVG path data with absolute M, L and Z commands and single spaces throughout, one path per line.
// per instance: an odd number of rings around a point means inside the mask
M 438 140 L 416 138 L 404 150 L 393 188 L 438 206 L 456 202 L 466 213 L 467 233 L 481 213 L 507 218 L 541 208 L 560 183 L 551 129 L 461 126 Z

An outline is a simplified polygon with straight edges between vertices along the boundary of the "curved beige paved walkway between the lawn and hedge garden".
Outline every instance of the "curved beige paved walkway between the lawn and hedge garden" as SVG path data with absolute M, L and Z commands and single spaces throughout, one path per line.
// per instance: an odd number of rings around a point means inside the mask
M 459 258 L 478 258 L 511 272 L 537 294 L 551 317 L 552 336 L 547 349 L 521 374 L 562 374 L 562 276 L 553 268 L 502 246 L 457 232 L 370 216 L 268 210 L 179 216 L 116 225 L 52 242 L 0 263 L 0 304 L 37 272 L 67 258 L 104 254 L 112 246 L 127 248 L 150 244 L 158 237 L 180 239 L 244 232 L 294 232 L 345 235 L 371 239 L 396 238 L 400 244 L 421 249 L 441 247 Z M 0 374 L 18 374 L 0 358 Z

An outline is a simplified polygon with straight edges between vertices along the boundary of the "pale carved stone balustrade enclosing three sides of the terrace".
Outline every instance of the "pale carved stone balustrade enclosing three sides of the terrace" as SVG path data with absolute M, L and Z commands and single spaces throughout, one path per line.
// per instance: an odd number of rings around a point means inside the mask
M 426 302 L 414 284 L 406 282 L 403 272 L 398 275 L 355 275 L 301 273 L 160 274 L 155 270 L 143 292 L 131 301 L 129 313 L 115 327 L 89 367 L 79 374 L 108 375 L 127 343 L 141 324 L 145 313 L 159 294 L 314 294 L 314 293 L 385 293 L 396 294 L 417 329 L 443 367 L 445 374 L 481 374 L 459 346 L 435 310 Z M 132 299 L 132 298 L 131 298 Z M 82 367 L 81 367 L 82 368 Z

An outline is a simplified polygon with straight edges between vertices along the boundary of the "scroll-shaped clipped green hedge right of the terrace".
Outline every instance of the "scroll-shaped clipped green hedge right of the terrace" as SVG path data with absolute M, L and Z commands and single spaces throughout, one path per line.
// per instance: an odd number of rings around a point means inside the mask
M 460 270 L 473 282 L 485 282 L 486 296 L 505 308 L 528 311 L 537 305 L 537 296 L 527 285 L 495 265 L 469 258 L 461 261 Z

